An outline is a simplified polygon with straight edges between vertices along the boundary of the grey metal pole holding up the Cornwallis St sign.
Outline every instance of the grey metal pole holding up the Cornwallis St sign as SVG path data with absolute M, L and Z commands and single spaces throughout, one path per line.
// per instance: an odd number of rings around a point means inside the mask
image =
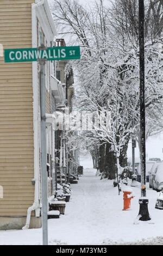
M 40 50 L 45 50 L 42 33 L 40 32 Z M 45 63 L 46 59 L 39 59 L 40 65 L 40 112 L 41 112 L 41 184 L 42 184 L 42 240 L 48 245 L 48 219 L 47 219 L 47 152 L 46 152 L 46 110 L 45 110 Z

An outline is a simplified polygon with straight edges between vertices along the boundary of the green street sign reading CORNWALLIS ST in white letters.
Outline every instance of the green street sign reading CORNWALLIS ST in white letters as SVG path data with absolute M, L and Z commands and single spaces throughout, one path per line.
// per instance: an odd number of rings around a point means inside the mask
M 38 59 L 61 60 L 80 59 L 79 46 L 48 47 L 47 50 L 37 48 L 5 49 L 4 62 L 36 62 Z

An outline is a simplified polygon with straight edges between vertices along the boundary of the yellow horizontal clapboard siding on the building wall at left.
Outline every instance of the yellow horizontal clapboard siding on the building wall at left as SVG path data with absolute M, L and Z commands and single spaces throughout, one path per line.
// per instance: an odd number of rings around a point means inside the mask
M 32 47 L 34 0 L 0 0 L 0 44 Z M 26 216 L 34 201 L 32 63 L 0 57 L 0 216 Z

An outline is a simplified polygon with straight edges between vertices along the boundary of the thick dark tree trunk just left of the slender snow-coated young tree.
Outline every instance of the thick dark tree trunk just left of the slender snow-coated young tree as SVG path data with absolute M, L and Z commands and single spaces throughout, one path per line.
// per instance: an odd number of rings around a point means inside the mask
M 110 143 L 106 144 L 106 154 L 105 154 L 105 178 L 113 180 L 116 177 L 117 166 L 116 166 L 116 157 L 113 147 Z

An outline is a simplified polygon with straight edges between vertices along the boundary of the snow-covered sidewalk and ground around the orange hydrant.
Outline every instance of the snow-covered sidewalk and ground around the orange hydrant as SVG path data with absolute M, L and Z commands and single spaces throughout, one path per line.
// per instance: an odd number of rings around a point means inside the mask
M 147 189 L 152 220 L 138 222 L 140 187 L 133 188 L 131 210 L 122 211 L 123 193 L 118 196 L 112 181 L 100 180 L 95 173 L 95 169 L 84 169 L 78 184 L 71 185 L 65 215 L 48 220 L 49 245 L 163 245 L 163 211 L 155 209 L 157 193 Z M 0 245 L 41 244 L 41 229 L 0 231 Z

